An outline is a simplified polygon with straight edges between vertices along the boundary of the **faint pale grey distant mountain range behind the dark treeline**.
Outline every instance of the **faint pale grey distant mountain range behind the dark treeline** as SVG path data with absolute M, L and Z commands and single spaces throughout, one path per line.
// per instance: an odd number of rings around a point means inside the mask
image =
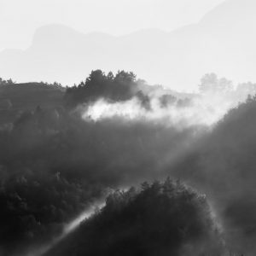
M 72 85 L 92 69 L 125 69 L 149 83 L 193 90 L 204 73 L 236 82 L 256 80 L 256 22 L 253 0 L 227 0 L 197 24 L 173 32 L 148 29 L 113 37 L 83 34 L 67 26 L 38 29 L 26 50 L 0 54 L 3 78 L 44 80 Z

